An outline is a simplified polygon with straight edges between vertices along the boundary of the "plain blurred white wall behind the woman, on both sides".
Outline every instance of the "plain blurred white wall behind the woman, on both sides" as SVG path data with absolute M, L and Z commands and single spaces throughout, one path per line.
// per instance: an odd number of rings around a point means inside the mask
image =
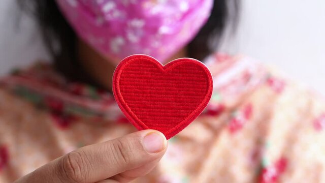
M 48 59 L 35 24 L 19 19 L 14 2 L 0 1 L 0 75 Z M 238 33 L 225 39 L 222 50 L 274 65 L 325 94 L 325 1 L 242 0 Z

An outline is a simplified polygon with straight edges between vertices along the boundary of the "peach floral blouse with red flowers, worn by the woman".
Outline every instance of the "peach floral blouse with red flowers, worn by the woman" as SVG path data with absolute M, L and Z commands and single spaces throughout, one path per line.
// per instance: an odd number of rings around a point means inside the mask
M 253 59 L 206 59 L 214 93 L 134 182 L 325 182 L 322 96 Z M 0 79 L 0 182 L 70 151 L 134 132 L 110 93 L 38 63 Z

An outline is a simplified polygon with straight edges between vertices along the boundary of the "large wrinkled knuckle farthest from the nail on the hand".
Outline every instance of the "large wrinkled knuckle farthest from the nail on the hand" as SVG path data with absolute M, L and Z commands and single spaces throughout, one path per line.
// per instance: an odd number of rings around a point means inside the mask
M 84 167 L 81 153 L 73 151 L 62 158 L 60 177 L 68 182 L 85 182 Z

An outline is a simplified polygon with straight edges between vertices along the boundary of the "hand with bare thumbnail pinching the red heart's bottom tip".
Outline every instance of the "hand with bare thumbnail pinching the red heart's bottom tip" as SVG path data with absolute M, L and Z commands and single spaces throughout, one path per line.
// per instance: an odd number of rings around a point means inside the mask
M 143 130 L 72 151 L 15 182 L 129 182 L 149 173 L 166 148 L 163 134 Z

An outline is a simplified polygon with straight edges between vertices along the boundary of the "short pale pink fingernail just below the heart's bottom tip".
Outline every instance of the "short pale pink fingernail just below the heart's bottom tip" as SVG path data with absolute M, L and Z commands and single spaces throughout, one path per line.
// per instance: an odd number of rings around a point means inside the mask
M 148 153 L 158 153 L 165 148 L 167 140 L 163 135 L 151 132 L 143 138 L 142 143 Z

